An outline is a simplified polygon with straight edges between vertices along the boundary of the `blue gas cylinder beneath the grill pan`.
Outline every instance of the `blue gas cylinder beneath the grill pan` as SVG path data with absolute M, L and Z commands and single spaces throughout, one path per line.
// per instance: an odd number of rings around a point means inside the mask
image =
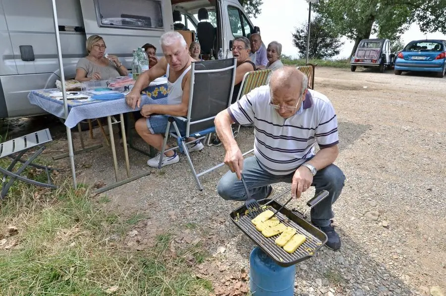
M 293 296 L 296 265 L 282 267 L 259 247 L 249 258 L 249 287 L 253 296 Z

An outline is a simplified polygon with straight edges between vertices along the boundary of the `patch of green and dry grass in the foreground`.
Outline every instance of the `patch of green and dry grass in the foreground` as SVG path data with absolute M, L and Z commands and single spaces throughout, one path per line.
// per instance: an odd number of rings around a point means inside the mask
M 106 238 L 143 219 L 135 214 L 121 220 L 96 209 L 85 188 L 68 183 L 48 191 L 17 182 L 0 204 L 1 234 L 14 225 L 18 234 L 6 236 L 0 247 L 0 295 L 76 296 L 208 296 L 209 281 L 196 279 L 183 254 L 169 253 L 172 236 L 161 234 L 143 251 L 121 248 Z M 4 249 L 15 242 L 15 247 Z M 185 251 L 207 256 L 199 247 Z

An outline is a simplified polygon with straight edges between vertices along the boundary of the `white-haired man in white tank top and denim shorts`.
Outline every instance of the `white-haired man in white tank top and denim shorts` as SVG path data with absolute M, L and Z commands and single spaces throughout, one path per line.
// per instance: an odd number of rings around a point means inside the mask
M 141 114 L 144 118 L 135 123 L 138 134 L 147 142 L 160 151 L 163 146 L 163 135 L 167 128 L 168 116 L 186 116 L 189 106 L 190 89 L 190 67 L 194 59 L 189 55 L 186 41 L 178 32 L 167 32 L 161 36 L 161 47 L 164 57 L 160 61 L 144 72 L 136 81 L 132 91 L 126 96 L 127 104 L 135 109 L 141 104 L 141 90 L 149 86 L 150 82 L 158 77 L 166 75 L 169 94 L 167 104 L 147 104 L 142 106 Z M 154 115 L 152 114 L 164 114 Z M 186 131 L 184 122 L 175 120 L 181 133 Z M 170 126 L 173 130 L 173 126 Z M 188 141 L 194 138 L 189 138 Z M 166 147 L 169 149 L 169 147 Z M 200 151 L 203 144 L 200 141 L 192 143 L 189 152 Z M 160 153 L 147 161 L 150 167 L 158 167 Z M 163 157 L 162 167 L 171 165 L 179 161 L 176 151 L 167 151 Z

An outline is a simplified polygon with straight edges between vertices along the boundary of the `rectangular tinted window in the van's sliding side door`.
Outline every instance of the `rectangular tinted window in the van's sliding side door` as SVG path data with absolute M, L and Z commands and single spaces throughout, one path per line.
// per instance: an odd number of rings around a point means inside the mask
M 94 0 L 99 27 L 163 29 L 161 0 Z

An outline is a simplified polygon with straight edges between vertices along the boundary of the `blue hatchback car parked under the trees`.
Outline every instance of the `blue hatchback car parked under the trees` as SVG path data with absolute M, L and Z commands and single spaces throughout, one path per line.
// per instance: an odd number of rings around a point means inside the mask
M 446 41 L 416 40 L 409 42 L 395 59 L 395 75 L 403 71 L 437 72 L 445 76 Z

